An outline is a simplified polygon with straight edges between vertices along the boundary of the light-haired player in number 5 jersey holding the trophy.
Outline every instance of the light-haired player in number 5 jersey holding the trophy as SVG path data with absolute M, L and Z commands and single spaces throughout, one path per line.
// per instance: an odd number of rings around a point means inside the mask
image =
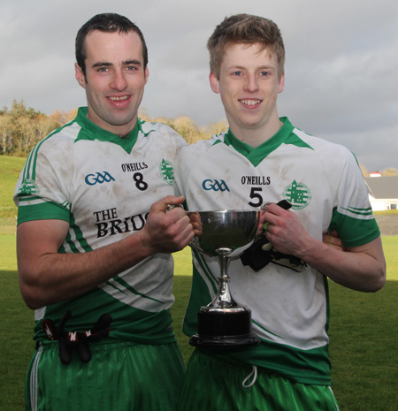
M 262 238 L 228 268 L 233 300 L 251 309 L 260 343 L 229 353 L 196 348 L 179 410 L 338 410 L 330 388 L 327 278 L 364 292 L 386 280 L 362 173 L 347 148 L 279 118 L 285 50 L 275 23 L 229 17 L 208 49 L 210 87 L 221 96 L 229 129 L 181 149 L 177 185 L 190 210 L 271 203 Z M 282 201 L 291 209 L 279 207 Z M 333 236 L 322 242 L 330 232 L 346 250 L 328 247 Z M 217 257 L 193 251 L 193 260 L 188 336 L 197 332 L 197 312 L 215 297 L 219 276 Z

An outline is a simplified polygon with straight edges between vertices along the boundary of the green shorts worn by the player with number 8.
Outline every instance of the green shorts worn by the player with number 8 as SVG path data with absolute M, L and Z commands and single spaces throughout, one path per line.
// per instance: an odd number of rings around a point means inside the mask
M 40 346 L 27 373 L 27 411 L 175 411 L 184 379 L 177 343 L 160 346 L 105 340 L 92 359 L 59 360 L 58 344 Z

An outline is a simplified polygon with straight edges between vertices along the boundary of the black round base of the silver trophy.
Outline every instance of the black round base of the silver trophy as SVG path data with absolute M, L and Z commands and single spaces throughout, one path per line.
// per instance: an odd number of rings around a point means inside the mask
M 191 346 L 239 349 L 260 343 L 251 331 L 251 311 L 247 308 L 199 311 L 197 318 L 198 333 L 189 340 Z

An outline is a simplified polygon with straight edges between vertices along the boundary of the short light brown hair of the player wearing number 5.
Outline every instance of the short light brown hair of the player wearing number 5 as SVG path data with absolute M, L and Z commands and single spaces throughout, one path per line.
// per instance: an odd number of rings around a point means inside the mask
M 219 79 L 219 71 L 226 49 L 236 43 L 260 44 L 275 54 L 279 65 L 279 78 L 285 72 L 285 46 L 279 27 L 270 19 L 251 14 L 226 17 L 211 34 L 207 42 L 210 52 L 210 71 Z

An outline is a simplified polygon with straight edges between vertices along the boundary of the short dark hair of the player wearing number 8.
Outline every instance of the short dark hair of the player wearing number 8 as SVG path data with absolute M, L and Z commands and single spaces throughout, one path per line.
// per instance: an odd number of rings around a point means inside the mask
M 85 40 L 88 34 L 91 32 L 99 30 L 105 33 L 119 32 L 119 33 L 129 33 L 134 32 L 140 36 L 142 41 L 142 57 L 144 70 L 148 65 L 148 49 L 145 43 L 142 31 L 129 19 L 116 13 L 102 13 L 96 14 L 85 23 L 78 34 L 76 35 L 75 42 L 75 53 L 76 62 L 80 66 L 81 71 L 86 75 L 86 46 Z

